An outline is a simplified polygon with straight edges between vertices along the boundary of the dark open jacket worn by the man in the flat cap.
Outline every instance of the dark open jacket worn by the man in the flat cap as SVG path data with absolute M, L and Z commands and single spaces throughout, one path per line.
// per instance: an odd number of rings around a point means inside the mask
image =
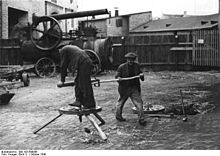
M 129 76 L 129 71 L 128 71 L 128 62 L 121 64 L 118 69 L 117 69 L 117 73 L 115 78 L 121 77 L 121 78 L 126 78 L 126 77 L 130 77 Z M 140 73 L 142 73 L 141 69 L 140 69 L 140 65 L 137 62 L 134 62 L 134 76 L 139 75 Z M 126 92 L 126 90 L 129 87 L 136 87 L 139 91 L 140 91 L 140 80 L 139 78 L 135 79 L 135 86 L 130 86 L 129 84 L 129 80 L 127 81 L 121 81 L 119 82 L 119 93 L 122 94 L 124 92 Z

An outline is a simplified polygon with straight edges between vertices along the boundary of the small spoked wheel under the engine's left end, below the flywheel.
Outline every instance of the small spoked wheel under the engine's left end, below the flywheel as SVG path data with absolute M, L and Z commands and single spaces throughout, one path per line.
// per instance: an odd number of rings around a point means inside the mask
M 52 77 L 56 72 L 56 64 L 54 60 L 49 57 L 40 58 L 35 64 L 35 72 L 38 76 Z

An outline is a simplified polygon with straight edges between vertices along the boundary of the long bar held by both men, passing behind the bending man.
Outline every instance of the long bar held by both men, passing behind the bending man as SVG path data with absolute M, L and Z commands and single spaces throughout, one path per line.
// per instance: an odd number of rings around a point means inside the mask
M 120 82 L 120 81 L 126 81 L 126 80 L 132 80 L 132 79 L 137 79 L 137 78 L 142 78 L 144 77 L 144 74 L 140 74 L 137 76 L 133 76 L 133 77 L 127 77 L 127 78 L 120 78 L 120 79 L 110 79 L 110 80 L 100 80 L 100 79 L 93 79 L 91 80 L 91 83 L 95 86 L 95 87 L 99 87 L 100 83 L 108 83 L 108 82 Z M 75 82 L 74 81 L 70 81 L 70 82 L 65 82 L 63 84 L 58 84 L 57 87 L 61 88 L 61 87 L 67 87 L 67 86 L 75 86 Z

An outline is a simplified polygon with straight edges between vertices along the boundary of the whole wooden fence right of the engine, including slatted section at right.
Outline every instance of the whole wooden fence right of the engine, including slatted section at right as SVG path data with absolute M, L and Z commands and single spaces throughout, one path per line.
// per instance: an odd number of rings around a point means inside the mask
M 218 29 L 197 30 L 178 35 L 112 37 L 114 66 L 123 63 L 133 51 L 144 67 L 159 70 L 191 70 L 197 67 L 220 67 Z

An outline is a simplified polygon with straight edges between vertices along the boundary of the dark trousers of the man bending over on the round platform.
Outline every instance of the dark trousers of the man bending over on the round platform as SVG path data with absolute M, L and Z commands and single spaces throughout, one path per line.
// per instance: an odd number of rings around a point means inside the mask
M 84 60 L 77 71 L 75 79 L 75 97 L 84 107 L 92 108 L 96 106 L 91 83 L 92 62 Z

